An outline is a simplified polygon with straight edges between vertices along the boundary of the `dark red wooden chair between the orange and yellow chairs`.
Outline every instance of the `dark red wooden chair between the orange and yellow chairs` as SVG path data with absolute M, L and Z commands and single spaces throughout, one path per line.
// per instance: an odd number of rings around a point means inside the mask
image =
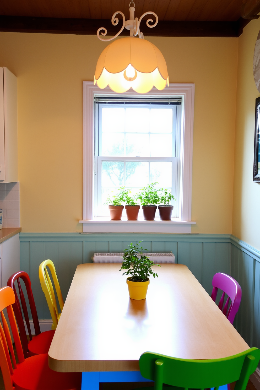
M 22 279 L 23 282 L 25 283 L 30 310 L 32 313 L 32 320 L 34 323 L 34 330 L 35 330 L 34 337 L 32 337 L 25 296 L 23 294 L 23 290 L 21 288 L 21 283 L 19 279 Z M 17 281 L 20 300 L 18 298 L 18 293 L 16 291 L 16 287 L 14 284 L 15 281 Z M 48 330 L 46 332 L 41 333 L 35 302 L 34 302 L 34 296 L 32 294 L 31 281 L 28 273 L 23 271 L 14 273 L 14 275 L 12 275 L 8 279 L 7 286 L 11 287 L 14 291 L 15 302 L 13 303 L 12 308 L 14 310 L 14 314 L 20 331 L 20 338 L 23 346 L 23 355 L 25 356 L 25 358 L 27 358 L 28 356 L 39 355 L 41 353 L 48 353 L 55 330 Z M 25 325 L 23 322 L 23 315 L 28 329 L 28 334 L 30 338 L 29 342 L 27 339 Z

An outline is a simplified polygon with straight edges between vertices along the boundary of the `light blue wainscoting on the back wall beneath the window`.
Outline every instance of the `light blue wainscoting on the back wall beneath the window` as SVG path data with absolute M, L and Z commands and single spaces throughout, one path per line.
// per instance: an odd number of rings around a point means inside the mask
M 54 262 L 65 299 L 78 264 L 92 262 L 94 252 L 123 252 L 140 240 L 149 252 L 173 252 L 209 294 L 216 272 L 230 274 L 230 234 L 20 233 L 21 270 L 30 275 L 39 319 L 51 318 L 38 275 L 43 260 Z

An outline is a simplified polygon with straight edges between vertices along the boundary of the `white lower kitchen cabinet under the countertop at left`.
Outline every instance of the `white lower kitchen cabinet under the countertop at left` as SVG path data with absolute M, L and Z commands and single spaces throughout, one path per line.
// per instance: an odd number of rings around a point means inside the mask
M 1 246 L 1 287 L 6 286 L 9 277 L 20 271 L 19 234 L 0 243 Z

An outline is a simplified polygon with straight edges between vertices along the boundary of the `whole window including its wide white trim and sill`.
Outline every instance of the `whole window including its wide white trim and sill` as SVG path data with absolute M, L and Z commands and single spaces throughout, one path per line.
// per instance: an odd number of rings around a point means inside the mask
M 83 82 L 83 232 L 191 232 L 194 89 L 170 84 L 145 95 L 119 95 Z M 164 126 L 156 131 L 162 118 Z M 106 217 L 103 204 L 112 188 L 122 184 L 136 191 L 149 181 L 172 188 L 178 199 L 172 222 Z

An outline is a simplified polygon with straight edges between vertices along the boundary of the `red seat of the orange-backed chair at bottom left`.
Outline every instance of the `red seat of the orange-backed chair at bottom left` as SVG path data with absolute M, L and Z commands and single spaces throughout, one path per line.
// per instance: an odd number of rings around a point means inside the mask
M 31 356 L 12 375 L 15 390 L 80 390 L 81 372 L 57 372 L 48 365 L 48 354 Z

